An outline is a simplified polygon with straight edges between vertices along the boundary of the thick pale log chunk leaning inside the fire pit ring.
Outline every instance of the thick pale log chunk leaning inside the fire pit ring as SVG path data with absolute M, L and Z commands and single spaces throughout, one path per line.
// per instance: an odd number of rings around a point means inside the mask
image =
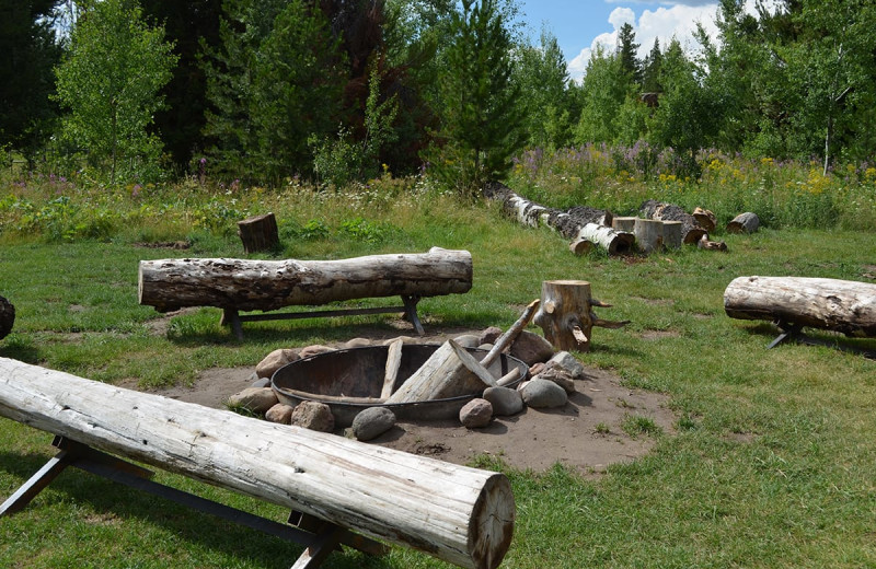
M 447 399 L 495 387 L 496 379 L 453 340 L 447 340 L 388 399 L 388 404 Z

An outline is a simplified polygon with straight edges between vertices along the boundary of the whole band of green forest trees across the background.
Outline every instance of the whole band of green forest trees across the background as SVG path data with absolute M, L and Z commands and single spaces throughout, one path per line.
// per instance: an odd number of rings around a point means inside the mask
M 648 142 L 865 161 L 876 7 L 723 0 L 698 49 L 630 25 L 580 83 L 514 0 L 2 0 L 0 146 L 102 182 L 343 185 L 425 170 L 471 193 L 523 148 Z

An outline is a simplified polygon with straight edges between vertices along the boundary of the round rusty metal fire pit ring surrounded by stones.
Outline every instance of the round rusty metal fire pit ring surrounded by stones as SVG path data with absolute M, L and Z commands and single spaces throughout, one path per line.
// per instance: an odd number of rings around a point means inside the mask
M 438 345 L 431 344 L 404 346 L 393 391 L 418 370 L 438 348 Z M 488 353 L 487 350 L 480 348 L 466 348 L 466 351 L 479 361 Z M 274 373 L 270 384 L 279 400 L 287 405 L 295 406 L 302 400 L 327 405 L 338 427 L 348 427 L 359 411 L 376 406 L 391 409 L 400 420 L 457 418 L 463 405 L 481 395 L 472 393 L 428 402 L 383 403 L 380 393 L 388 356 L 388 346 L 367 346 L 319 353 L 284 365 Z M 498 379 L 515 368 L 520 370 L 520 380 L 508 385 L 514 387 L 529 372 L 525 362 L 503 353 L 487 370 Z

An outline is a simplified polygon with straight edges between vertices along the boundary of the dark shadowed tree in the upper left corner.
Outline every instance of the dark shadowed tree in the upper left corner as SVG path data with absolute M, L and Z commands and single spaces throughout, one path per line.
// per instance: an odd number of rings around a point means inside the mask
M 57 0 L 0 0 L 0 149 L 32 160 L 50 133 L 57 106 L 53 68 L 61 47 L 53 28 Z

